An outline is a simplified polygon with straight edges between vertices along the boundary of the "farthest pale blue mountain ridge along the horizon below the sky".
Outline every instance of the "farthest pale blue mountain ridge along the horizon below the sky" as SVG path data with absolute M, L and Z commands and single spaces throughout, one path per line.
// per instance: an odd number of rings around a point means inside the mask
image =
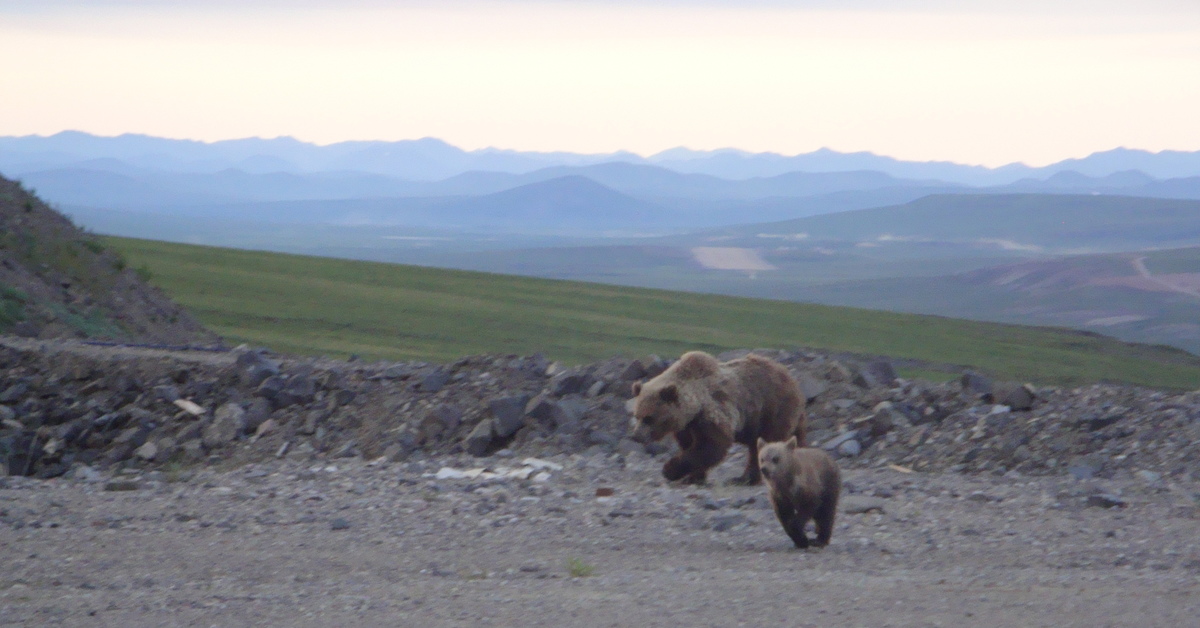
M 872 152 L 838 152 L 829 149 L 785 156 L 734 149 L 679 148 L 641 157 L 631 152 L 581 155 L 500 149 L 467 151 L 436 138 L 317 145 L 289 137 L 205 143 L 142 134 L 98 137 L 78 131 L 48 137 L 0 137 L 0 172 L 10 175 L 77 167 L 80 162 L 103 159 L 168 172 L 214 173 L 228 168 L 246 173 L 353 171 L 408 181 L 438 181 L 470 171 L 524 174 L 553 166 L 608 162 L 659 166 L 677 173 L 733 180 L 770 178 L 791 172 L 874 171 L 896 179 L 938 180 L 971 186 L 1006 185 L 1028 178 L 1045 179 L 1060 172 L 1076 172 L 1090 178 L 1104 178 L 1126 171 L 1140 171 L 1152 179 L 1200 177 L 1200 151 L 1150 152 L 1123 148 L 1038 168 L 1021 163 L 985 168 L 952 162 L 902 161 Z

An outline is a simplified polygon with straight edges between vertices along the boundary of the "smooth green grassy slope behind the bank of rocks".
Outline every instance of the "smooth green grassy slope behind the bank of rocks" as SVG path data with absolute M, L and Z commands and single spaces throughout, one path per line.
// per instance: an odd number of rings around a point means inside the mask
M 810 346 L 1044 383 L 1200 385 L 1200 358 L 1058 329 L 109 239 L 232 342 L 365 358 L 542 352 L 584 361 Z

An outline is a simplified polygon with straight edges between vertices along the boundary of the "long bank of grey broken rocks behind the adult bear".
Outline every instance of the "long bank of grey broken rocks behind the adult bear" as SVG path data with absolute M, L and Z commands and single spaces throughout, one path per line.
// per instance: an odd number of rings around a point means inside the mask
M 54 347 L 0 343 L 0 465 L 10 474 L 284 456 L 620 456 L 644 449 L 628 438 L 631 384 L 667 365 L 654 357 L 565 367 L 540 355 L 364 364 L 246 348 L 198 359 Z M 972 372 L 930 383 L 898 378 L 882 360 L 766 353 L 809 396 L 812 443 L 845 466 L 1200 477 L 1196 393 L 1034 388 Z

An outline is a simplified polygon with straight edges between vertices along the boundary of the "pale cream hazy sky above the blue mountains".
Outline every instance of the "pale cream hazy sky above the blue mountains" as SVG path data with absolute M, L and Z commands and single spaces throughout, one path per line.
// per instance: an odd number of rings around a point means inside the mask
M 0 0 L 0 134 L 1200 150 L 1200 0 Z

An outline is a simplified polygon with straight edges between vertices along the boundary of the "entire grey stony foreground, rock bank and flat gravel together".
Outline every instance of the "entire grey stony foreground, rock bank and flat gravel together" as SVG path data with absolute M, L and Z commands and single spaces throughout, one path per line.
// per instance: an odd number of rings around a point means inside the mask
M 1195 393 L 906 382 L 770 354 L 806 381 L 814 442 L 841 454 L 823 550 L 792 549 L 766 489 L 726 484 L 744 448 L 708 486 L 677 486 L 670 447 L 625 437 L 654 358 L 0 339 L 0 624 L 1174 627 L 1200 611 Z

